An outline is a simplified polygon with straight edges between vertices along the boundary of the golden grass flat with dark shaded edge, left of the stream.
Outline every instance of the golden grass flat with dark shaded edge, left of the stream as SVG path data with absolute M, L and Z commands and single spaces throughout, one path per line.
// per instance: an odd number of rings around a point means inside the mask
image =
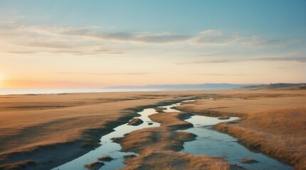
M 31 169 L 50 169 L 97 147 L 103 134 L 142 108 L 198 95 L 201 92 L 0 96 L 0 164 L 11 169 L 33 159 L 38 164 Z

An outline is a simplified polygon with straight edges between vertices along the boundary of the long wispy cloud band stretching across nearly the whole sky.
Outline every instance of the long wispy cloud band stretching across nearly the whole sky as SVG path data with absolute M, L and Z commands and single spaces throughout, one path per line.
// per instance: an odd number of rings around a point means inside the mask
M 0 44 L 6 45 L 2 54 L 26 55 L 36 53 L 68 55 L 122 55 L 137 45 L 241 45 L 252 47 L 280 47 L 296 40 L 268 40 L 257 35 L 242 36 L 224 33 L 222 30 L 204 30 L 191 36 L 179 33 L 110 32 L 97 26 L 46 27 L 46 26 L 0 26 Z M 127 47 L 127 45 L 130 45 Z M 16 48 L 18 47 L 18 48 Z M 16 50 L 19 49 L 19 50 Z M 209 54 L 206 56 L 213 56 Z M 206 61 L 207 62 L 207 61 Z M 233 60 L 209 61 L 236 62 Z M 196 62 L 199 63 L 199 62 Z

